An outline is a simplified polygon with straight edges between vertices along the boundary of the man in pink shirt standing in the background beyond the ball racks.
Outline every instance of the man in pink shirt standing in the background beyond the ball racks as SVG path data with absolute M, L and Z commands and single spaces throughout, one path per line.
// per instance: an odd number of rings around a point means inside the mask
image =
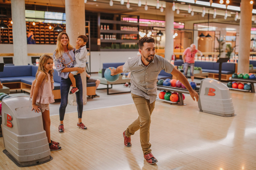
M 188 78 L 187 72 L 188 72 L 188 67 L 190 66 L 190 77 L 192 81 L 194 81 L 194 77 L 195 77 L 193 73 L 194 73 L 194 66 L 195 66 L 195 54 L 197 52 L 200 53 L 200 56 L 202 57 L 203 55 L 202 52 L 196 49 L 195 44 L 191 44 L 190 47 L 186 48 L 182 54 L 182 59 L 184 62 L 184 66 L 183 66 L 184 75 L 186 78 Z

